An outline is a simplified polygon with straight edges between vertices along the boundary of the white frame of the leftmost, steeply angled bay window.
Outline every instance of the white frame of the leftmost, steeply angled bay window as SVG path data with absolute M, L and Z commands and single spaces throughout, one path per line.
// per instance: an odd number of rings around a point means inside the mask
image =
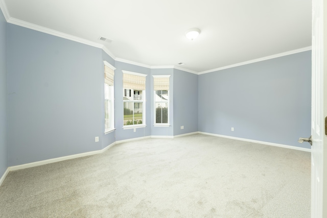
M 116 69 L 114 66 L 112 66 L 110 63 L 108 63 L 107 61 L 103 61 L 104 65 L 109 67 L 110 69 L 114 70 Z M 114 80 L 113 80 L 113 83 L 114 83 Z M 109 86 L 109 99 L 106 99 L 106 85 Z M 106 128 L 106 120 L 105 120 L 105 117 L 106 117 L 106 100 L 109 100 L 110 101 L 110 108 L 107 108 L 109 110 L 109 116 L 110 116 L 110 120 L 109 120 L 109 123 L 110 123 L 110 127 L 109 128 Z M 114 127 L 114 85 L 109 85 L 106 83 L 106 81 L 104 82 L 104 133 L 105 134 L 108 134 L 112 131 L 115 130 L 115 127 Z

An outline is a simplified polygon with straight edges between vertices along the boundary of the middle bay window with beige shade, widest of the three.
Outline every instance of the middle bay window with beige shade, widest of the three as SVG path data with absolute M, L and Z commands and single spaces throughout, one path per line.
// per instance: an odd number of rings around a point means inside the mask
M 124 128 L 145 126 L 146 76 L 123 70 Z

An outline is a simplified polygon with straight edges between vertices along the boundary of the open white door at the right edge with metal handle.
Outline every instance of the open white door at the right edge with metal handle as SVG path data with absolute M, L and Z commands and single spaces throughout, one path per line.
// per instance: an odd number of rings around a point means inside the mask
M 324 84 L 322 14 L 323 0 L 312 0 L 311 217 L 323 217 Z M 326 212 L 324 211 L 324 213 Z

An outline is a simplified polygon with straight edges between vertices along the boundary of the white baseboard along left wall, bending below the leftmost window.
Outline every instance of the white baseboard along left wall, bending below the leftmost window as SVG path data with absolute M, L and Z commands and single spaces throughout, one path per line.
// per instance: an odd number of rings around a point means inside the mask
M 26 164 L 21 164 L 21 165 L 16 165 L 16 166 L 9 166 L 8 168 L 9 168 L 9 171 L 17 171 L 18 169 L 26 169 L 26 168 L 30 168 L 30 167 L 34 167 L 34 166 L 41 166 L 41 165 L 48 164 L 48 163 L 55 163 L 55 162 L 59 162 L 59 161 L 63 161 L 63 160 L 70 160 L 70 159 L 75 159 L 75 158 L 79 158 L 79 157 L 86 157 L 86 156 L 91 156 L 91 155 L 95 155 L 95 154 L 101 154 L 104 151 L 111 148 L 112 146 L 114 146 L 115 144 L 116 143 L 113 142 L 113 143 L 109 144 L 109 146 L 107 146 L 106 148 L 104 148 L 102 150 L 85 152 L 85 153 L 81 153 L 81 154 L 74 154 L 74 155 L 69 155 L 69 156 L 64 156 L 64 157 L 57 157 L 57 158 L 52 158 L 52 159 L 48 159 L 48 160 L 41 160 L 41 161 L 36 161 L 36 162 L 26 163 Z

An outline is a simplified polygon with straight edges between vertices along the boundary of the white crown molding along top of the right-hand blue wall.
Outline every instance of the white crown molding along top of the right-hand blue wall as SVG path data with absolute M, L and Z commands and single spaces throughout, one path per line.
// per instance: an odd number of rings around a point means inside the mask
M 279 54 L 275 54 L 275 55 L 270 55 L 270 56 L 266 56 L 266 57 L 263 57 L 263 58 L 244 61 L 244 62 L 237 63 L 237 64 L 231 64 L 231 65 L 219 67 L 219 68 L 216 68 L 216 69 L 205 70 L 205 71 L 199 72 L 198 75 L 207 74 L 208 72 L 219 71 L 219 70 L 228 69 L 228 68 L 232 68 L 232 67 L 242 66 L 242 65 L 246 65 L 246 64 L 251 64 L 251 63 L 255 63 L 255 62 L 259 62 L 259 61 L 265 61 L 265 60 L 269 60 L 269 59 L 273 59 L 273 58 L 279 58 L 279 57 L 283 57 L 283 56 L 287 56 L 287 55 L 293 55 L 293 54 L 296 54 L 296 53 L 306 52 L 306 51 L 310 51 L 310 50 L 311 50 L 311 46 L 303 47 L 301 49 L 296 49 L 296 50 L 292 50 L 292 51 L 288 51 L 288 52 L 283 52 L 283 53 L 279 53 Z

